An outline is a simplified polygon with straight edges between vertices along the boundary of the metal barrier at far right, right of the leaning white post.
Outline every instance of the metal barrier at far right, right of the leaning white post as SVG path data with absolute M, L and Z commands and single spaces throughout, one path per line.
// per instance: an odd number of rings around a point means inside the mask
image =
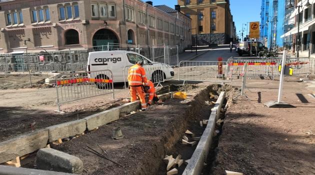
M 286 58 L 286 66 L 293 68 L 293 76 L 305 75 L 308 77 L 310 70 L 310 59 L 309 58 Z

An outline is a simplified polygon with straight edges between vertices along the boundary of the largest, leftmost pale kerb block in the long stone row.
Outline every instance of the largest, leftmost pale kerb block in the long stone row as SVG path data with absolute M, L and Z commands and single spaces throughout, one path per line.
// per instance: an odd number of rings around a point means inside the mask
M 43 129 L 0 142 L 0 163 L 45 148 L 47 141 L 48 130 Z

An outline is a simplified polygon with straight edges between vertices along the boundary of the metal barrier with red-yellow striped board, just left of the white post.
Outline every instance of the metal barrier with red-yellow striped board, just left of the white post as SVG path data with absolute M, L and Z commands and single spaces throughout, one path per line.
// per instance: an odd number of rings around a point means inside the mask
M 232 58 L 229 59 L 229 75 L 240 76 L 243 66 L 247 63 L 246 76 L 269 76 L 278 75 L 279 58 Z

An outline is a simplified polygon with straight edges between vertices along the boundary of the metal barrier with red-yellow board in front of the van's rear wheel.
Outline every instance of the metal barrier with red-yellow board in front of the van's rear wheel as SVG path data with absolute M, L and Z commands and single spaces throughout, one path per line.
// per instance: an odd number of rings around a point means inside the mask
M 112 94 L 114 99 L 113 76 L 108 69 L 59 74 L 55 81 L 58 112 L 62 103 L 105 94 Z

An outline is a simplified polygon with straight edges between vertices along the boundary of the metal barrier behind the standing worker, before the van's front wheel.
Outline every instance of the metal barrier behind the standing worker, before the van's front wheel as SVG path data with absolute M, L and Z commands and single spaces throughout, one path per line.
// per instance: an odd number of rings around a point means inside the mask
M 122 69 L 122 75 L 123 75 L 123 82 L 124 82 L 124 88 L 127 88 L 127 76 L 128 76 L 128 70 L 131 66 L 124 66 Z M 164 82 L 165 79 L 165 72 L 164 72 L 164 66 L 162 63 L 150 63 L 150 64 L 144 64 L 143 68 L 146 73 L 146 78 L 148 80 L 151 80 L 153 84 L 157 84 L 156 86 L 160 85 L 160 83 Z

